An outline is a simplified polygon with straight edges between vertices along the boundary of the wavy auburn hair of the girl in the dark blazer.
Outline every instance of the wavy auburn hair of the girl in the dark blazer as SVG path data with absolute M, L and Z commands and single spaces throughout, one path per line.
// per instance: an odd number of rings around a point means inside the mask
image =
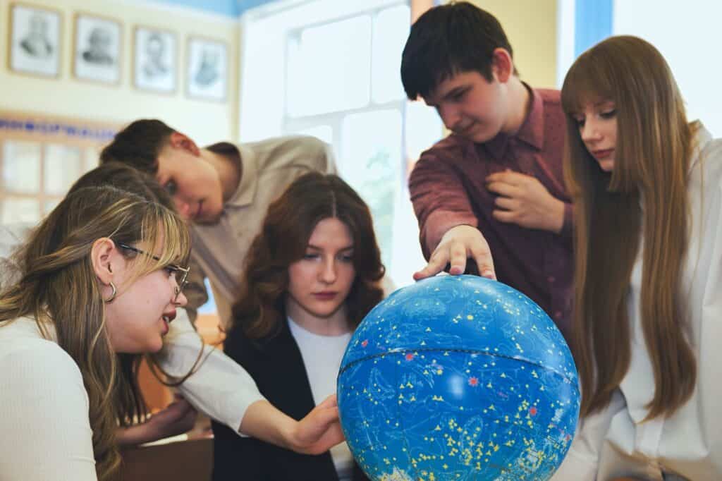
M 279 332 L 288 268 L 303 257 L 318 222 L 329 217 L 347 225 L 354 241 L 356 278 L 345 301 L 351 326 L 357 326 L 380 302 L 383 290 L 378 282 L 384 267 L 368 206 L 339 176 L 307 173 L 269 206 L 261 233 L 246 257 L 230 335 L 242 329 L 251 339 L 260 339 Z

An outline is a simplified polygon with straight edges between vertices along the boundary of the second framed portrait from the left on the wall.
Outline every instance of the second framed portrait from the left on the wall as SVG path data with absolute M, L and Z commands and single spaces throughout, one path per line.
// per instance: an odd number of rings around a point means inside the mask
M 90 14 L 75 16 L 73 72 L 75 77 L 116 84 L 121 81 L 120 22 Z

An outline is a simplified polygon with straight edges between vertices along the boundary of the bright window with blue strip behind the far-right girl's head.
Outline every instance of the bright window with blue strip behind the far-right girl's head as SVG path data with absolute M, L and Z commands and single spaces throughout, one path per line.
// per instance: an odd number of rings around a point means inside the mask
M 714 58 L 708 35 L 717 29 L 722 4 L 690 0 L 679 8 L 653 0 L 558 0 L 558 12 L 560 87 L 567 69 L 584 50 L 609 35 L 635 35 L 666 59 L 685 100 L 687 118 L 699 118 L 713 136 L 722 135 L 722 97 L 717 92 L 722 64 L 700 60 Z

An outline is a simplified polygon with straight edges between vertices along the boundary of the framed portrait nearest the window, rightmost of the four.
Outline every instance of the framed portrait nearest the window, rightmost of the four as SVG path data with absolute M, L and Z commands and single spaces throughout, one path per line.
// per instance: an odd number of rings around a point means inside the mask
M 208 38 L 188 39 L 186 69 L 189 97 L 223 101 L 228 84 L 228 48 Z

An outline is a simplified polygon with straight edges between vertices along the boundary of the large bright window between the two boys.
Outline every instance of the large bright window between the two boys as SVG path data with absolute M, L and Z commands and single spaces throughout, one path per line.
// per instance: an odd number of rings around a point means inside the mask
M 397 286 L 425 265 L 406 178 L 443 132 L 401 86 L 410 18 L 407 1 L 316 0 L 256 9 L 243 27 L 240 139 L 305 134 L 331 144 L 339 175 L 371 209 Z

